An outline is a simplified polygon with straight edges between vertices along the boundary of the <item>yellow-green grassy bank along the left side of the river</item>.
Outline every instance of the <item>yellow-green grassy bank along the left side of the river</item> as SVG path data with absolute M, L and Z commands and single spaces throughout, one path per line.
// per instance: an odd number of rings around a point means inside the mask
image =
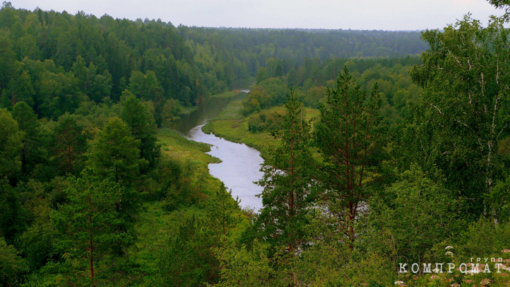
M 163 199 L 149 200 L 142 204 L 143 211 L 135 227 L 140 240 L 131 250 L 131 255 L 135 263 L 144 270 L 156 268 L 161 252 L 167 248 L 168 240 L 176 236 L 179 227 L 186 220 L 206 216 L 206 208 L 221 186 L 220 180 L 212 177 L 208 171 L 209 163 L 221 162 L 218 158 L 206 154 L 211 151 L 211 145 L 189 140 L 172 129 L 160 129 L 158 142 L 161 144 L 161 161 L 172 161 L 179 165 L 183 183 L 189 186 L 188 196 L 191 198 L 186 199 L 189 203 L 172 206 L 169 199 L 174 191 L 165 190 L 167 195 Z M 236 237 L 244 231 L 249 216 L 240 210 L 234 215 L 242 218 L 231 230 L 232 236 Z

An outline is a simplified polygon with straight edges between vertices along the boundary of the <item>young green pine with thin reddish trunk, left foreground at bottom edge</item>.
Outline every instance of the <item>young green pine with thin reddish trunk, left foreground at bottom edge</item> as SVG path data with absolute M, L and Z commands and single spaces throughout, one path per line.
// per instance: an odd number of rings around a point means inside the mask
M 122 222 L 117 211 L 122 188 L 108 179 L 101 181 L 94 177 L 93 170 L 86 169 L 82 178 L 71 179 L 67 198 L 69 203 L 59 205 L 51 214 L 60 235 L 58 248 L 71 263 L 71 281 L 95 286 L 108 279 L 111 271 L 104 268 L 104 261 L 115 255 L 115 245 L 132 240 L 128 233 L 117 229 Z

